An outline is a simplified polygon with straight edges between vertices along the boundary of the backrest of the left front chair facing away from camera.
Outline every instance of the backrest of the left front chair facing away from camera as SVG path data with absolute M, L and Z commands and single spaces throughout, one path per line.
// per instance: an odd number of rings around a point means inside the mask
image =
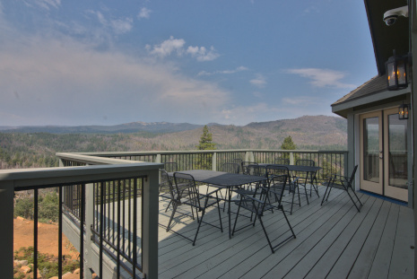
M 188 199 L 190 205 L 201 207 L 198 198 L 198 190 L 192 175 L 182 172 L 174 172 L 174 185 L 172 187 L 173 199 L 181 203 L 182 198 Z

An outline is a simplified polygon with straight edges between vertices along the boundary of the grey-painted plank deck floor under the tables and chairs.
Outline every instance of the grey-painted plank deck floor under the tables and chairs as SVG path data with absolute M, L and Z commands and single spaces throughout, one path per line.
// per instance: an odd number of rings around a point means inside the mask
M 324 190 L 319 188 L 320 196 Z M 297 238 L 274 254 L 259 222 L 229 239 L 226 213 L 222 213 L 224 231 L 203 225 L 195 246 L 161 226 L 159 277 L 413 278 L 413 211 L 374 196 L 359 196 L 364 204 L 361 213 L 342 191 L 334 189 L 323 206 L 314 193 L 309 205 L 304 196 L 301 207 L 294 205 L 294 212 L 288 214 Z M 163 225 L 168 224 L 171 213 L 170 209 L 165 213 L 167 205 L 160 203 Z M 234 217 L 232 214 L 232 223 Z M 267 213 L 263 220 L 273 244 L 290 235 L 281 212 Z M 204 221 L 218 224 L 217 211 L 206 214 Z M 248 222 L 239 218 L 239 224 Z M 172 229 L 193 237 L 195 223 L 177 215 Z

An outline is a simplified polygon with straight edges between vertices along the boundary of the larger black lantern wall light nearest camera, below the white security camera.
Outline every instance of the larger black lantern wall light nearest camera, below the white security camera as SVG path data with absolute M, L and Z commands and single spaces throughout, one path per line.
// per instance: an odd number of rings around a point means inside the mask
M 411 62 L 411 56 L 397 57 L 395 50 L 393 56 L 388 58 L 385 64 L 388 90 L 399 90 L 408 86 L 407 62 Z

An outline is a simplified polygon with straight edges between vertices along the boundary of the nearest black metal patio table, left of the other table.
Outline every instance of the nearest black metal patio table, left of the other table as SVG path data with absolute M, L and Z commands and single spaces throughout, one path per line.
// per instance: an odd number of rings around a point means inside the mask
M 229 173 L 222 171 L 214 170 L 181 170 L 177 171 L 179 173 L 186 173 L 192 175 L 195 181 L 206 183 L 207 185 L 217 185 L 228 188 L 228 215 L 229 215 L 229 238 L 231 238 L 230 231 L 230 199 L 231 199 L 231 189 L 235 187 L 240 187 L 245 184 L 255 183 L 262 180 L 265 180 L 265 177 L 253 176 L 253 175 L 244 175 L 239 173 Z M 173 176 L 173 172 L 169 173 L 169 176 Z

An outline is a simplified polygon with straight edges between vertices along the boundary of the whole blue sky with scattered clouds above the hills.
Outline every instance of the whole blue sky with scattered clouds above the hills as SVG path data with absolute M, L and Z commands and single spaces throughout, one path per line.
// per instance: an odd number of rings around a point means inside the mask
M 0 126 L 335 116 L 378 74 L 362 0 L 0 0 L 0 42 Z

